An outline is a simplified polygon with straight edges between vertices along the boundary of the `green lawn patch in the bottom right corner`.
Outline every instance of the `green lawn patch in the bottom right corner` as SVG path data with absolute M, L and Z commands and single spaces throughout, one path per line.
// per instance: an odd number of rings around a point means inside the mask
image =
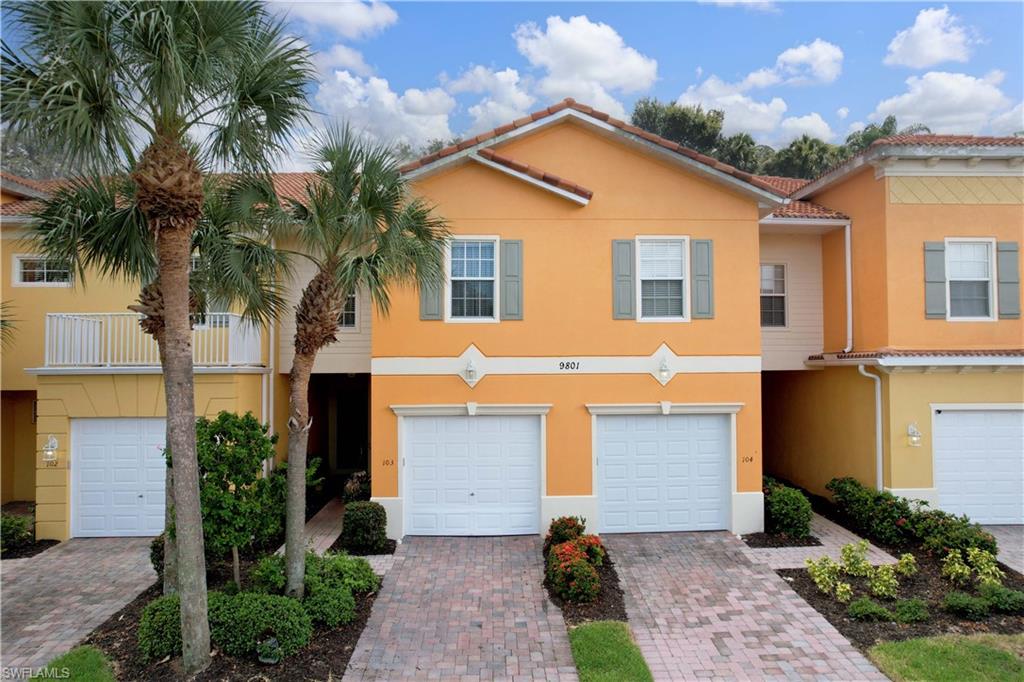
M 895 682 L 1019 682 L 1024 635 L 946 635 L 877 644 L 867 651 Z

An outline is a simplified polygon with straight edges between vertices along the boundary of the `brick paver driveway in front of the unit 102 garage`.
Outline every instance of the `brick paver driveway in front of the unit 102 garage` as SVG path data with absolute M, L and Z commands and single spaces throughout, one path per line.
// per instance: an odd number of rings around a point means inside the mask
M 45 666 L 153 585 L 150 540 L 69 540 L 0 563 L 4 679 L 7 669 Z

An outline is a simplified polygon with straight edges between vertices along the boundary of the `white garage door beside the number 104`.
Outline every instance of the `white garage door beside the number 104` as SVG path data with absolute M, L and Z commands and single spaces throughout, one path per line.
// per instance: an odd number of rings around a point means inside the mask
M 727 415 L 597 418 L 602 532 L 729 527 Z

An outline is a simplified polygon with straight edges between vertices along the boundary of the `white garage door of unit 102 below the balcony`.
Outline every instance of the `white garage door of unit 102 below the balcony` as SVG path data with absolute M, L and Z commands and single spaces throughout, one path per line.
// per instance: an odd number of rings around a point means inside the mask
M 164 530 L 163 419 L 75 419 L 71 424 L 72 535 Z

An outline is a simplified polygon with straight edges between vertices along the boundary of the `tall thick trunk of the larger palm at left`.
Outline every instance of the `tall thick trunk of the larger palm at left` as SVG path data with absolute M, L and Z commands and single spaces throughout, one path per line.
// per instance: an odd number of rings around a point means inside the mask
M 164 392 L 167 442 L 174 467 L 174 526 L 177 534 L 178 594 L 181 597 L 182 663 L 186 675 L 210 664 L 206 558 L 196 457 L 196 394 L 191 325 L 188 319 L 188 268 L 193 225 L 165 225 L 157 232 L 157 258 L 164 294 Z

